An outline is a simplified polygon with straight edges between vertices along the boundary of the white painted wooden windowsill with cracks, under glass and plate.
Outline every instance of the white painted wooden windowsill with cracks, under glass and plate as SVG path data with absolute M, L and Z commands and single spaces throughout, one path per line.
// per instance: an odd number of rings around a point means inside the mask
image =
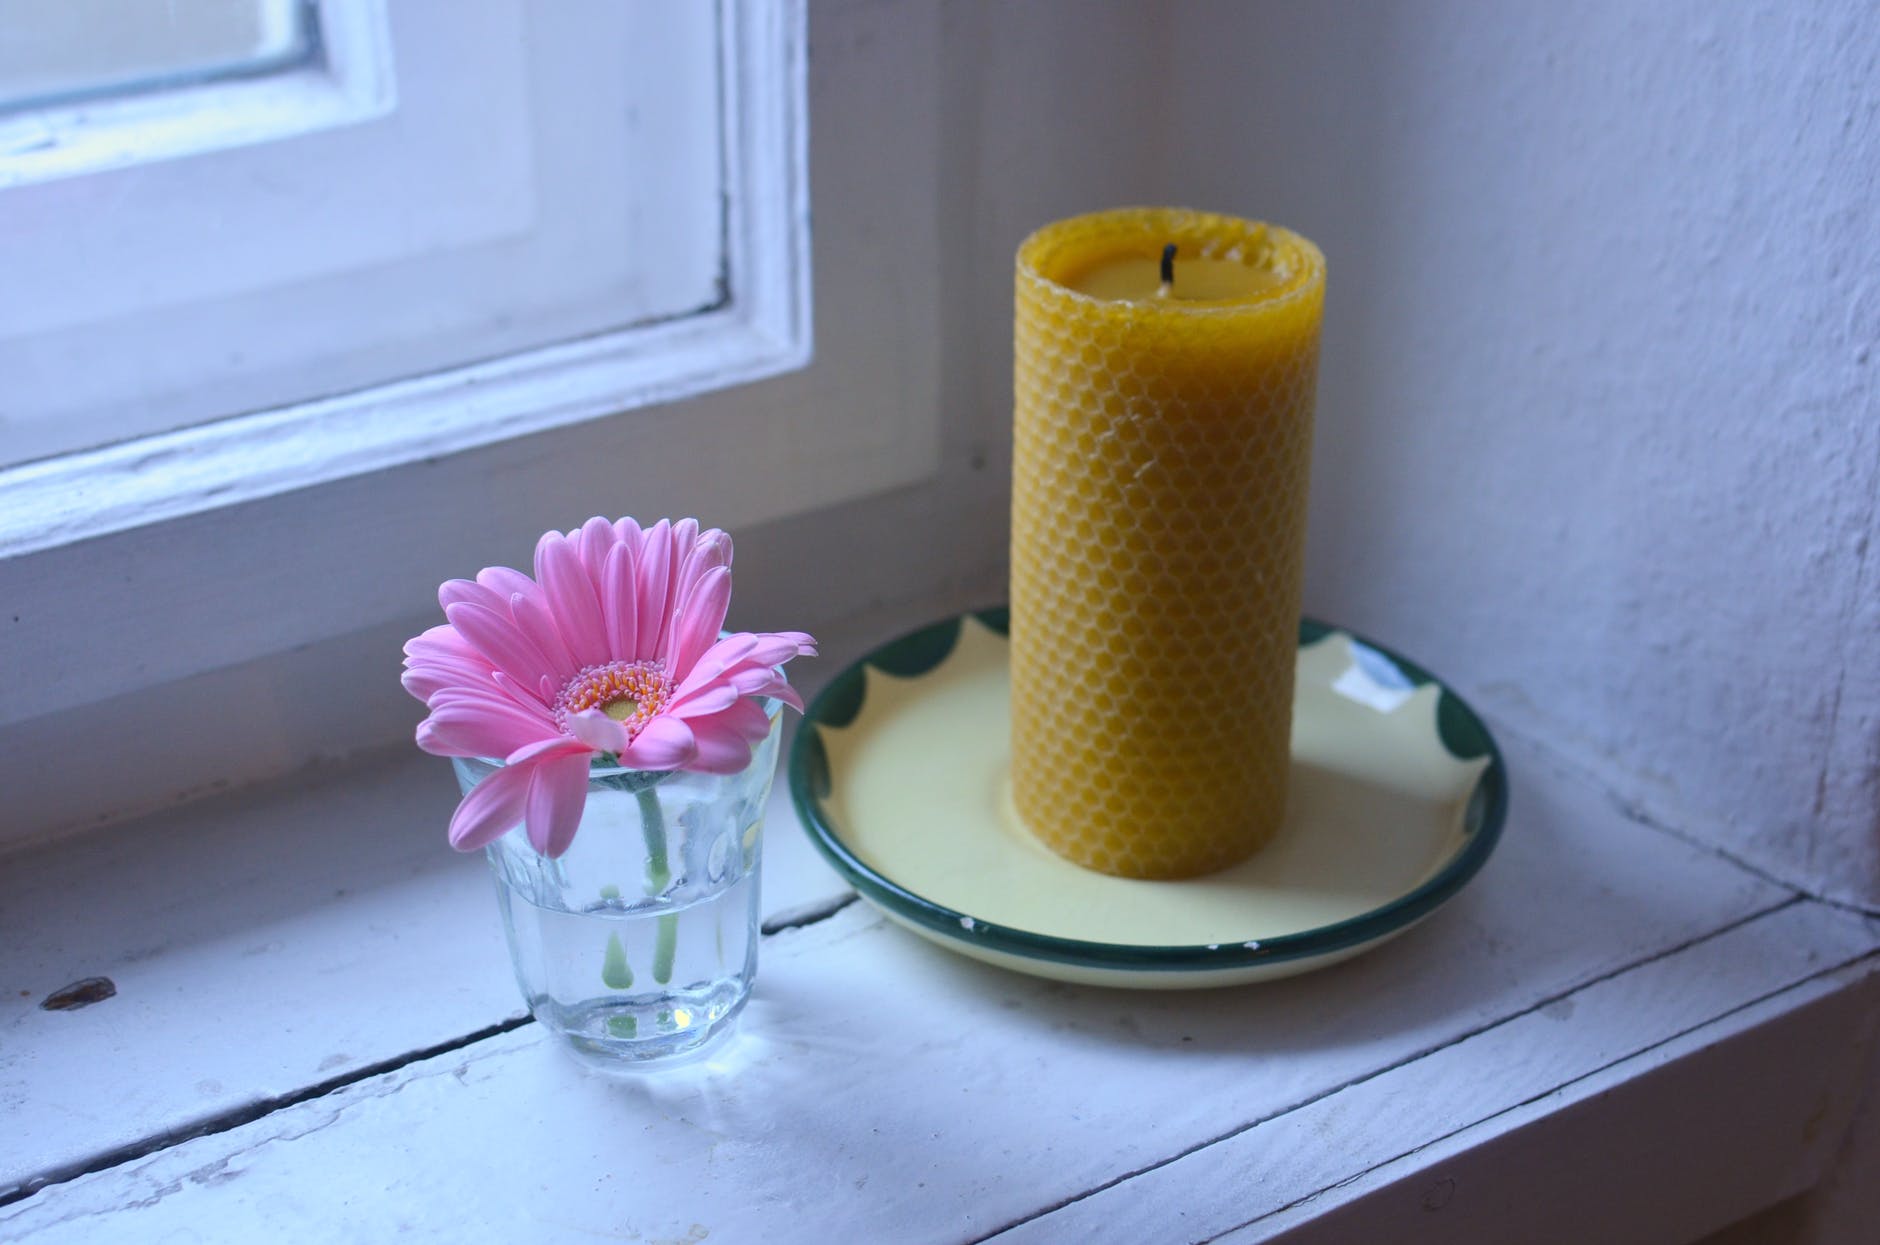
M 840 906 L 780 780 L 765 912 L 805 923 L 765 938 L 724 1059 L 628 1085 L 525 1023 L 434 758 L 19 854 L 0 1189 L 55 1183 L 0 1236 L 1669 1241 L 1810 1187 L 1880 923 L 1502 743 L 1512 820 L 1451 905 L 1198 993 L 1036 982 Z M 117 995 L 39 1010 L 86 976 Z

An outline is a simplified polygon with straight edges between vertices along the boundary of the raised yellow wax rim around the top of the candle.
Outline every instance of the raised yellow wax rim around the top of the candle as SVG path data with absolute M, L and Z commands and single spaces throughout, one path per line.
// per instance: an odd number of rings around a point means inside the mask
M 1167 243 L 1177 243 L 1188 260 L 1237 260 L 1275 282 L 1216 299 L 1105 297 L 1068 284 L 1104 263 L 1152 260 Z M 1017 267 L 1019 280 L 1047 288 L 1051 297 L 1126 308 L 1132 316 L 1260 314 L 1322 293 L 1325 286 L 1325 256 L 1292 229 L 1181 207 L 1119 207 L 1051 222 L 1019 244 Z

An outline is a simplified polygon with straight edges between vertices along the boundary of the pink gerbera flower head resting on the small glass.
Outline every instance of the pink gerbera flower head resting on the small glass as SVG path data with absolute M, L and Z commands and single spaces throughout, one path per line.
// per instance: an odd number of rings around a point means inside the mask
M 491 566 L 438 589 L 444 626 L 404 645 L 431 715 L 417 747 L 498 758 L 451 816 L 462 852 L 526 822 L 543 856 L 573 841 L 596 758 L 628 769 L 737 773 L 769 733 L 761 698 L 801 711 L 778 666 L 803 632 L 718 636 L 731 538 L 696 519 L 588 519 L 536 544 L 536 577 Z

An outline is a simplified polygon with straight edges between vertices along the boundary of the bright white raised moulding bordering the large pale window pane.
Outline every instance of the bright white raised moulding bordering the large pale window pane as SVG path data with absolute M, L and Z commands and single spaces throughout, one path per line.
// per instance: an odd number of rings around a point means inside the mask
M 713 303 L 412 380 L 0 468 L 0 557 L 803 367 L 810 314 L 808 213 L 805 188 L 795 184 L 801 55 L 788 45 L 790 24 L 767 21 L 778 8 L 795 6 L 720 8 L 722 269 Z

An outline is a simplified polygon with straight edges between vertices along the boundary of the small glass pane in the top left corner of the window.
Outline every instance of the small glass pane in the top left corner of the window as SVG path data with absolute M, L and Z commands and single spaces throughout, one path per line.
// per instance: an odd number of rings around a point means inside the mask
M 306 0 L 0 0 L 0 111 L 301 64 Z

